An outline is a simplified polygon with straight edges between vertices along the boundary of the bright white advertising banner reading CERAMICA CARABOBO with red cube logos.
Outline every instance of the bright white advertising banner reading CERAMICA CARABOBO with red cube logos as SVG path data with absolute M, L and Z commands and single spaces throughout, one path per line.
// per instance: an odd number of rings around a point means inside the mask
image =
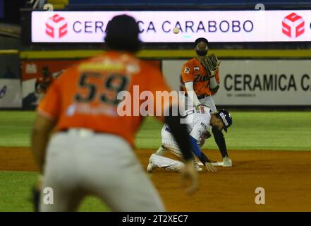
M 311 10 L 286 10 L 35 11 L 32 42 L 103 42 L 109 20 L 124 13 L 138 21 L 142 42 L 311 41 Z

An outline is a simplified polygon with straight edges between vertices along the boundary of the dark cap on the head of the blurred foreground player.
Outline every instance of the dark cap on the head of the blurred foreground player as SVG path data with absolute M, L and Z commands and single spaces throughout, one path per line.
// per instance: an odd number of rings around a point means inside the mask
M 106 41 L 110 49 L 136 52 L 140 49 L 139 28 L 136 20 L 126 14 L 114 16 L 106 28 Z

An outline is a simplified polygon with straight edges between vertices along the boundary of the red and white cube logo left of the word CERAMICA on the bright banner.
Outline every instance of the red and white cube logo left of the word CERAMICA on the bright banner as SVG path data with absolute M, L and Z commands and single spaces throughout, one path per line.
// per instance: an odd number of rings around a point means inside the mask
M 53 38 L 61 38 L 67 34 L 67 22 L 65 18 L 55 14 L 45 23 L 45 33 Z

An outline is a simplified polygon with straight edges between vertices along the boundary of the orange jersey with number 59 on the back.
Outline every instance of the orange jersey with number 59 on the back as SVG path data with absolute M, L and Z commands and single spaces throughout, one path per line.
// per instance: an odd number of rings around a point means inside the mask
M 136 86 L 138 85 L 138 86 Z M 108 52 L 72 66 L 51 84 L 38 112 L 57 120 L 56 131 L 86 128 L 122 136 L 130 144 L 142 121 L 139 93 L 169 90 L 161 71 L 130 54 Z M 131 115 L 118 114 L 121 91 L 131 95 Z M 154 101 L 154 115 L 157 102 Z M 162 109 L 164 106 L 161 106 Z M 136 114 L 135 114 L 136 112 Z

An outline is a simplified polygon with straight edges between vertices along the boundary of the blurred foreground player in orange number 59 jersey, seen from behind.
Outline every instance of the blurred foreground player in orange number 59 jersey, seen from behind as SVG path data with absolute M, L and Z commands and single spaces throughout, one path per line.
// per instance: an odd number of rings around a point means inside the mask
M 44 203 L 41 194 L 41 211 L 77 210 L 87 194 L 98 196 L 113 211 L 165 210 L 133 153 L 142 115 L 118 114 L 121 91 L 133 97 L 135 85 L 152 94 L 169 90 L 159 69 L 134 57 L 140 47 L 138 33 L 134 18 L 114 17 L 105 37 L 110 51 L 66 70 L 40 102 L 32 151 L 43 175 L 42 190 L 54 191 L 53 204 Z M 163 109 L 173 112 L 169 102 L 154 101 L 154 105 L 154 111 L 161 107 L 162 116 Z M 130 107 L 135 111 L 133 104 Z M 169 124 L 181 147 L 186 159 L 183 179 L 190 177 L 188 191 L 195 191 L 197 172 L 187 127 L 180 123 L 180 114 L 159 118 Z M 49 139 L 52 129 L 55 133 Z

